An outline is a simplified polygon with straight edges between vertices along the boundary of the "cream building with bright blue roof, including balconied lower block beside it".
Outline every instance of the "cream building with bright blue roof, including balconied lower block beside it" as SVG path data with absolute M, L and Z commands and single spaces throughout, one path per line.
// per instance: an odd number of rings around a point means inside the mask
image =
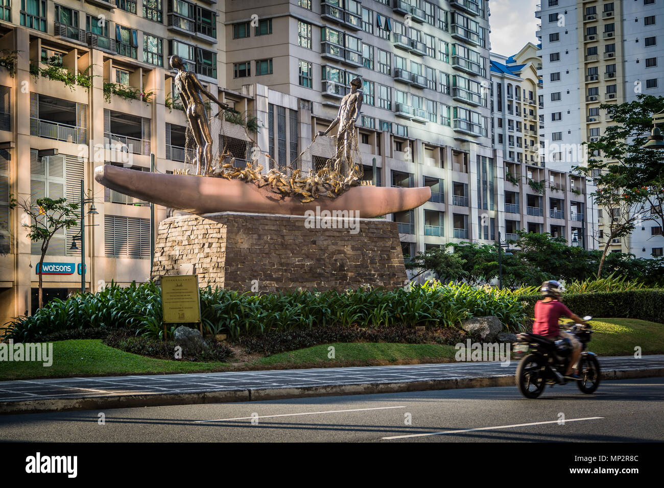
M 572 246 L 594 248 L 596 222 L 584 212 L 586 179 L 546 167 L 540 160 L 544 129 L 538 46 L 529 42 L 513 56 L 491 53 L 493 147 L 505 165 L 505 237 L 517 230 L 548 232 Z

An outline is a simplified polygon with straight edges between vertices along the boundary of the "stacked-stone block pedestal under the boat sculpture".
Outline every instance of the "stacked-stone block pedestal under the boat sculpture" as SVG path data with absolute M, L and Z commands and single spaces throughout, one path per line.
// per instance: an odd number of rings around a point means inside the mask
M 152 278 L 173 274 L 259 292 L 396 289 L 406 281 L 396 222 L 236 212 L 163 220 Z

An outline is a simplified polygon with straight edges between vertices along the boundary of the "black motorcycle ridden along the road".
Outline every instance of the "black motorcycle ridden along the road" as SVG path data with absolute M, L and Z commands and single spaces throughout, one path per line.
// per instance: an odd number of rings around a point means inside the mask
M 590 316 L 583 317 L 588 322 Z M 576 382 L 579 390 L 584 393 L 594 393 L 600 386 L 600 362 L 595 353 L 587 351 L 592 329 L 589 325 L 576 323 L 568 329 L 575 335 L 582 345 L 581 357 L 578 363 L 580 380 L 571 380 L 564 377 L 572 357 L 572 345 L 569 339 L 552 341 L 542 335 L 530 332 L 517 335 L 514 351 L 519 361 L 517 366 L 516 382 L 519 391 L 526 398 L 537 398 L 544 391 L 547 384 L 567 384 Z

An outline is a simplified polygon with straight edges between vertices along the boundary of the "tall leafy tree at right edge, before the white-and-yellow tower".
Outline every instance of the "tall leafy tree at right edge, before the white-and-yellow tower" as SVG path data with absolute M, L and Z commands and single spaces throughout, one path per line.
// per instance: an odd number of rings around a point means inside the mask
M 598 277 L 612 239 L 627 236 L 639 220 L 655 220 L 664 228 L 664 151 L 643 149 L 653 114 L 664 110 L 664 97 L 641 94 L 633 102 L 602 104 L 600 110 L 614 124 L 588 143 L 588 165 L 574 168 L 592 176 L 598 186 L 593 197 L 610 219 Z

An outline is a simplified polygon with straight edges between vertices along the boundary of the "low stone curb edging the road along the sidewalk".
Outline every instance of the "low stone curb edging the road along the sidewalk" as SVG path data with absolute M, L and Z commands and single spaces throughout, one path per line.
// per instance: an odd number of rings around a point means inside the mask
M 641 368 L 602 371 L 602 380 L 622 380 L 664 376 L 664 368 Z M 510 386 L 514 376 L 501 374 L 475 378 L 446 378 L 444 380 L 409 381 L 396 383 L 332 384 L 302 388 L 251 388 L 187 393 L 124 394 L 88 396 L 86 398 L 53 398 L 21 402 L 0 402 L 0 415 L 41 414 L 76 410 L 104 410 L 109 408 L 138 408 L 147 406 L 195 405 L 207 403 L 258 402 L 311 396 L 338 396 L 376 393 L 402 393 L 457 388 L 486 388 Z

